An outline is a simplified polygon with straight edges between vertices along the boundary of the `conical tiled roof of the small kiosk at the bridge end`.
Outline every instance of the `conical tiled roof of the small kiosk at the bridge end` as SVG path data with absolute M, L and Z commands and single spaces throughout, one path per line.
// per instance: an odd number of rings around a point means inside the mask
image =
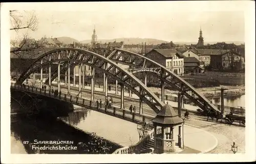
M 174 111 L 174 108 L 169 104 L 164 105 L 161 111 L 157 113 L 157 116 L 152 120 L 153 123 L 158 125 L 179 125 L 184 121 L 178 117 L 178 114 Z

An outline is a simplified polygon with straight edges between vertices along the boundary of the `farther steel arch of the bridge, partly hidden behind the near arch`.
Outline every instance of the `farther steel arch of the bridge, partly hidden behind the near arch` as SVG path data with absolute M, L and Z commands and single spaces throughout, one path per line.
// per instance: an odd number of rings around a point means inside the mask
M 126 51 L 123 49 L 115 49 L 106 57 L 115 63 L 130 66 L 129 72 L 136 75 L 137 72 L 150 73 L 161 80 L 161 100 L 164 102 L 164 85 L 169 85 L 178 90 L 182 95 L 197 104 L 202 110 L 214 110 L 220 112 L 218 108 L 212 104 L 206 97 L 196 91 L 196 89 L 187 83 L 183 78 L 168 70 L 166 67 L 157 62 L 148 59 L 140 54 Z M 146 77 L 145 77 L 146 78 Z M 127 79 L 124 79 L 127 80 Z M 146 86 L 146 79 L 145 79 Z

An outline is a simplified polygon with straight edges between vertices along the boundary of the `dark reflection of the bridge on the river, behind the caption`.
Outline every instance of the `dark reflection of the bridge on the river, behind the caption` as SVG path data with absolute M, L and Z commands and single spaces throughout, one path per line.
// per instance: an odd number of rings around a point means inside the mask
M 69 113 L 69 117 L 62 119 L 77 125 L 86 120 L 90 111 Z M 43 116 L 49 116 L 47 114 Z M 69 146 L 77 147 L 77 150 L 36 150 L 37 141 L 72 141 Z M 28 142 L 28 144 L 26 144 Z M 39 146 L 59 146 L 60 144 L 41 144 Z M 67 145 L 67 144 L 66 144 Z M 65 144 L 60 146 L 66 146 Z M 78 130 L 61 120 L 38 115 L 15 115 L 11 118 L 11 153 L 28 154 L 105 154 L 113 153 L 120 145 L 103 138 L 98 138 L 84 131 Z

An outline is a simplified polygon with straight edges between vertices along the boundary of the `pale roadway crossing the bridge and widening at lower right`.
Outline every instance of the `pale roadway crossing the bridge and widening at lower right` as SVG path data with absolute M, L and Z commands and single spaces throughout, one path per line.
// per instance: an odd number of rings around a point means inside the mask
M 53 82 L 54 83 L 54 82 Z M 40 86 L 40 83 L 37 82 L 37 86 Z M 67 86 L 62 86 L 61 84 L 61 91 L 62 93 L 67 93 Z M 57 85 L 53 84 L 52 86 L 56 87 Z M 78 90 L 78 88 L 71 87 L 72 89 Z M 86 87 L 86 89 L 82 89 L 82 97 L 91 99 L 91 87 Z M 99 92 L 96 92 L 96 91 Z M 102 92 L 103 88 L 95 88 L 95 100 L 101 99 L 104 101 L 104 93 Z M 112 93 L 113 92 L 113 93 Z M 77 92 L 72 91 L 72 94 L 77 94 Z M 115 95 L 115 91 L 110 91 L 109 94 L 113 98 L 114 104 L 119 106 L 120 104 L 120 96 Z M 120 94 L 120 92 L 119 92 Z M 124 93 L 125 96 L 125 108 L 129 108 L 130 104 L 133 104 L 139 109 L 139 102 L 135 98 L 135 95 L 133 95 L 133 98 L 126 97 L 128 93 Z M 170 101 L 168 101 L 170 103 Z M 173 102 L 172 102 L 173 103 Z M 177 104 L 177 102 L 174 102 Z M 185 104 L 186 105 L 186 104 Z M 190 105 L 191 106 L 191 105 Z M 196 107 L 196 106 L 194 106 Z M 189 108 L 190 109 L 190 108 Z M 146 104 L 143 103 L 143 111 L 145 114 L 155 116 L 155 112 Z M 183 112 L 182 112 L 183 113 Z M 206 130 L 213 134 L 218 139 L 218 146 L 211 150 L 209 153 L 232 153 L 230 151 L 230 145 L 232 145 L 233 142 L 236 142 L 236 145 L 238 146 L 238 152 L 244 153 L 245 152 L 245 128 L 236 126 L 236 125 L 227 125 L 220 122 L 212 122 L 212 121 L 206 121 L 206 118 L 203 116 L 197 116 L 197 115 L 191 115 L 191 120 L 187 120 L 185 122 L 186 125 L 194 126 L 197 128 L 200 128 L 202 130 Z M 199 140 L 199 139 L 196 139 Z

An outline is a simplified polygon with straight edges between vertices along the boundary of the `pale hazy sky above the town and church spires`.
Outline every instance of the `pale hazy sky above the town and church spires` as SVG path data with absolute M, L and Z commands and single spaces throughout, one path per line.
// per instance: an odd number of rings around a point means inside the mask
M 44 5 L 45 7 L 39 8 L 42 5 L 38 4 L 32 8 L 38 18 L 38 25 L 35 32 L 29 32 L 29 36 L 35 39 L 46 36 L 71 37 L 78 41 L 90 40 L 95 25 L 98 39 L 125 37 L 197 42 L 201 26 L 205 42 L 244 42 L 243 10 L 237 11 L 230 5 L 225 7 L 220 3 L 73 3 L 59 5 L 59 8 L 55 9 Z M 218 10 L 220 5 L 225 8 Z M 24 14 L 23 10 L 19 10 L 22 15 L 31 12 L 27 10 Z M 23 18 L 25 20 L 26 17 Z M 22 33 L 25 32 L 20 31 L 18 36 Z M 16 36 L 16 33 L 11 33 L 11 39 Z

